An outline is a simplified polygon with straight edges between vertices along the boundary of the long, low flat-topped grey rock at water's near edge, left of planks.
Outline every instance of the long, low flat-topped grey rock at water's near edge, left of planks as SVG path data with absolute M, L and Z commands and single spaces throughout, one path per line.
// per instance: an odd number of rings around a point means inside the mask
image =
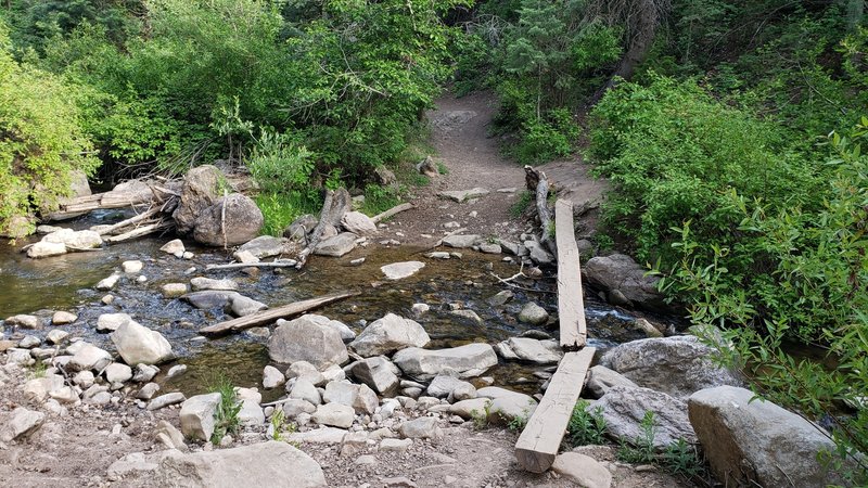
M 497 364 L 497 355 L 492 346 L 474 343 L 448 349 L 401 349 L 392 360 L 404 373 L 418 381 L 430 381 L 446 371 L 458 377 L 480 376 Z

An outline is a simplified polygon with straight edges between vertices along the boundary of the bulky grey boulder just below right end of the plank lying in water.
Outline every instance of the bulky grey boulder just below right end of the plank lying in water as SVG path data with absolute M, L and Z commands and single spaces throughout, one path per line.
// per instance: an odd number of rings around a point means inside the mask
M 275 330 L 268 339 L 268 356 L 285 364 L 307 361 L 320 371 L 349 359 L 341 334 L 307 316 L 284 322 Z

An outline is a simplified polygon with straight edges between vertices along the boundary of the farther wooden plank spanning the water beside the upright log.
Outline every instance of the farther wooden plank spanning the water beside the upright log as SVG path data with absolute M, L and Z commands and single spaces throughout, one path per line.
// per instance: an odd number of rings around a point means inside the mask
M 578 350 L 585 346 L 588 329 L 582 291 L 578 245 L 573 230 L 573 203 L 554 204 L 554 229 L 558 242 L 558 317 L 561 322 L 561 348 Z

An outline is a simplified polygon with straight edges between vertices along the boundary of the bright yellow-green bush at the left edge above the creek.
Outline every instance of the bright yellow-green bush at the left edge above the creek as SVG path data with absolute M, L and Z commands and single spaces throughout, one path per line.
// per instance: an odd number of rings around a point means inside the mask
M 73 103 L 74 87 L 15 62 L 0 22 L 0 231 L 15 217 L 50 211 L 69 193 L 74 170 L 90 174 L 99 160 Z

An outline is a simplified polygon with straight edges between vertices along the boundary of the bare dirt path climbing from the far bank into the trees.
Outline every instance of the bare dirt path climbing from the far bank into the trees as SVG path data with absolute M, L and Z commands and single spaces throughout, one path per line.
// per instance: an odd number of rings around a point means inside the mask
M 485 92 L 445 95 L 437 101 L 437 108 L 429 113 L 431 143 L 435 162 L 448 172 L 416 192 L 417 207 L 396 216 L 384 232 L 386 237 L 400 233 L 401 242 L 431 245 L 461 227 L 465 233 L 515 241 L 527 229 L 526 222 L 510 214 L 524 190 L 524 169 L 503 156 L 499 139 L 488 136 L 496 111 L 496 99 Z M 538 169 L 560 190 L 559 196 L 576 205 L 598 203 L 605 189 L 578 158 L 556 160 Z M 473 188 L 489 193 L 463 203 L 438 196 L 444 191 Z

